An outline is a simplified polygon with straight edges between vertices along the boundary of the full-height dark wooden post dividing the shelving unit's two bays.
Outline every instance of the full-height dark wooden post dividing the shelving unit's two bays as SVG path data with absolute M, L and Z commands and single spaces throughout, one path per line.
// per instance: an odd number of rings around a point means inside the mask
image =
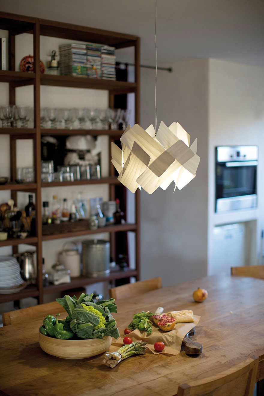
M 42 282 L 42 199 L 41 199 L 41 135 L 40 135 L 40 22 L 36 19 L 33 30 L 34 45 L 34 72 L 36 79 L 34 82 L 34 168 L 36 187 L 36 244 L 37 253 L 37 285 L 39 290 L 39 303 L 43 303 L 43 282 Z

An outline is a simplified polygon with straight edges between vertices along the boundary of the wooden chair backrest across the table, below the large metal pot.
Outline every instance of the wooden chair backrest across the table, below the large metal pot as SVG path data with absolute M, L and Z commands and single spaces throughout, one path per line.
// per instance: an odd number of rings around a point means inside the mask
M 147 291 L 160 289 L 161 278 L 153 278 L 147 280 L 140 280 L 135 283 L 127 283 L 122 286 L 114 287 L 113 289 L 109 289 L 109 297 L 114 297 L 115 300 L 132 297 L 139 294 L 146 293 Z

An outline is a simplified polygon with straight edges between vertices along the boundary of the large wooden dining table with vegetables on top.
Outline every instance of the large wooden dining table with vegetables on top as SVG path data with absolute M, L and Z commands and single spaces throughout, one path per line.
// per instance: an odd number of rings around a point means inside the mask
M 198 287 L 208 291 L 202 303 L 192 293 Z M 178 386 L 202 379 L 258 356 L 257 381 L 264 379 L 264 280 L 215 275 L 116 301 L 120 334 L 133 314 L 154 312 L 163 307 L 193 310 L 200 316 L 192 337 L 203 344 L 198 355 L 175 356 L 163 352 L 132 356 L 114 368 L 103 364 L 103 354 L 68 360 L 51 356 L 38 343 L 42 320 L 0 328 L 0 394 L 9 396 L 124 396 L 177 395 Z M 56 314 L 56 312 L 51 312 Z M 65 315 L 66 316 L 66 315 Z M 113 339 L 114 341 L 114 339 Z M 259 393 L 261 394 L 261 393 Z

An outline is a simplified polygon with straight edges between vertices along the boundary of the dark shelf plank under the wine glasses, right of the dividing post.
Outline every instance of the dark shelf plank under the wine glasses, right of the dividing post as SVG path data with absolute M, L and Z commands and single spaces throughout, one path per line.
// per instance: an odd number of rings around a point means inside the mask
M 119 129 L 41 129 L 42 135 L 91 135 L 91 136 L 109 136 L 120 138 L 123 130 Z

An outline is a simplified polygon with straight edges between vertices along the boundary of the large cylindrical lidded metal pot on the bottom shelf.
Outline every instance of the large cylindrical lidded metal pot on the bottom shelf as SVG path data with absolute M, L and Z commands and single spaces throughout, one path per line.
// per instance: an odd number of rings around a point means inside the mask
M 110 243 L 105 240 L 82 242 L 82 274 L 93 278 L 110 272 Z

